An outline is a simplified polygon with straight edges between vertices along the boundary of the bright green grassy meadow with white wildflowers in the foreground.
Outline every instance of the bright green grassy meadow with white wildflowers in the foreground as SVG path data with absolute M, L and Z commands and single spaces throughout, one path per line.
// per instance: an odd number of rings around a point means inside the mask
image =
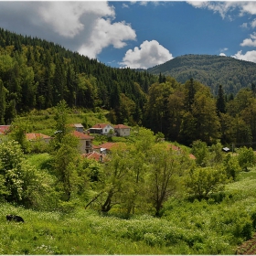
M 250 174 L 250 176 L 249 176 Z M 1 254 L 235 254 L 253 233 L 256 169 L 226 186 L 222 200 L 172 199 L 161 219 L 118 210 L 43 212 L 1 204 Z M 25 223 L 8 223 L 5 215 Z

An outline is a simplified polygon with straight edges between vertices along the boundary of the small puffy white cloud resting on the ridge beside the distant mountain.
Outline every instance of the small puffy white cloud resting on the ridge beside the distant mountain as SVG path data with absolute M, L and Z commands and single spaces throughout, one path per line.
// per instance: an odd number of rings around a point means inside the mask
M 157 41 L 144 41 L 140 48 L 129 49 L 120 65 L 131 69 L 148 69 L 173 59 L 172 54 Z

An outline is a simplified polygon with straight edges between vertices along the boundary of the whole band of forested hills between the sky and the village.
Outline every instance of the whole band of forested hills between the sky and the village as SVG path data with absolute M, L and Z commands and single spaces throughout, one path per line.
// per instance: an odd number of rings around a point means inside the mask
M 198 65 L 214 83 L 191 72 Z M 173 76 L 168 67 L 176 70 Z M 256 142 L 255 67 L 226 57 L 188 55 L 148 71 L 116 69 L 58 44 L 0 29 L 0 124 L 64 100 L 69 108 L 103 109 L 110 123 L 144 126 L 182 144 L 251 146 Z M 176 74 L 181 77 L 184 69 L 180 82 Z M 160 72 L 149 73 L 153 70 Z

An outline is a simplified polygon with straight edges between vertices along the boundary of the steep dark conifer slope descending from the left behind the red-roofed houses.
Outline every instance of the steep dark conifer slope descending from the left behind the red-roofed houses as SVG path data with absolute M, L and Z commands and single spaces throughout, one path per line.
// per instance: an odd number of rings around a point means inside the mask
M 139 123 L 145 94 L 158 76 L 110 68 L 37 37 L 0 28 L 0 123 L 16 113 L 56 106 L 112 112 L 113 123 Z

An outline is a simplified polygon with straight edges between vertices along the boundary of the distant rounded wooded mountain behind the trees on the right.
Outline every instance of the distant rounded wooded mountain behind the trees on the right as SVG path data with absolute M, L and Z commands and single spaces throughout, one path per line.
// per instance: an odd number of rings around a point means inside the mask
M 147 69 L 149 73 L 171 76 L 181 83 L 198 80 L 217 94 L 219 84 L 226 93 L 236 94 L 256 83 L 256 63 L 215 55 L 184 55 Z

